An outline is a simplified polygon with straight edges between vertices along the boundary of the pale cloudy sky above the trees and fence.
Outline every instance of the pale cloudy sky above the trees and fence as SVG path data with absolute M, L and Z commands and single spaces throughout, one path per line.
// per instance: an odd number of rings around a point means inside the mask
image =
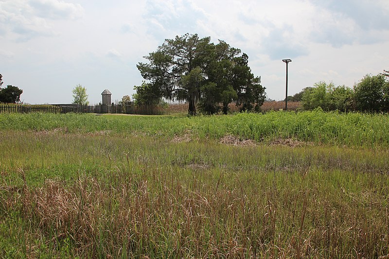
M 135 93 L 136 65 L 176 35 L 247 53 L 267 97 L 325 81 L 353 87 L 389 69 L 388 0 L 0 0 L 0 74 L 29 104 L 90 104 Z

